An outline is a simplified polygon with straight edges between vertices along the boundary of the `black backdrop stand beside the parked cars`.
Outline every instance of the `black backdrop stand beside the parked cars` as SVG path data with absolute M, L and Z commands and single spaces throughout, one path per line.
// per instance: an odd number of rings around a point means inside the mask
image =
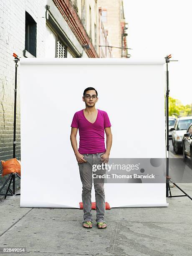
M 169 177 L 169 71 L 168 71 L 168 63 L 169 61 L 177 61 L 177 60 L 169 60 L 172 58 L 171 54 L 165 57 L 165 61 L 167 64 L 167 92 L 166 92 L 166 123 L 167 123 L 167 161 L 166 161 L 166 197 L 189 197 L 192 200 L 192 197 L 187 195 L 186 192 L 184 192 L 177 184 L 175 184 L 172 180 L 171 177 Z M 184 195 L 177 195 L 177 196 L 172 196 L 171 194 L 171 189 L 169 185 L 169 181 L 172 182 L 178 189 L 180 189 Z M 170 196 L 169 196 L 170 193 Z

